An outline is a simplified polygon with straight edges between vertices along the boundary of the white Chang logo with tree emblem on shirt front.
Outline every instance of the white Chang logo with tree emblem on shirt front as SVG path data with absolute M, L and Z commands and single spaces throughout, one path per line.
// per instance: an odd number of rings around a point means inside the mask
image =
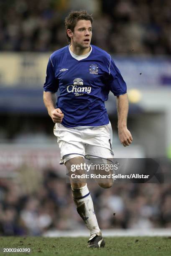
M 79 92 L 87 92 L 90 93 L 92 90 L 92 87 L 83 87 L 84 81 L 81 78 L 75 78 L 73 81 L 73 84 L 68 85 L 66 87 L 67 92 L 74 92 L 75 96 L 81 96 L 84 95 L 84 93 Z

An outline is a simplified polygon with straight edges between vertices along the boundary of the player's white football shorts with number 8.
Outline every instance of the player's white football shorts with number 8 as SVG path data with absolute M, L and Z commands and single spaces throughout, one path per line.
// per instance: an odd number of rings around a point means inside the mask
M 60 164 L 76 156 L 113 159 L 111 123 L 90 128 L 67 128 L 56 123 L 54 135 L 61 151 Z

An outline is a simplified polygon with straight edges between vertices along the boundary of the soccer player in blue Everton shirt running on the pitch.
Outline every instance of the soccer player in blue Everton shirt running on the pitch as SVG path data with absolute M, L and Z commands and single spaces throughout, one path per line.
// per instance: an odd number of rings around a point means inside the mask
M 84 163 L 85 156 L 113 158 L 112 128 L 105 108 L 110 91 L 117 97 L 120 141 L 123 146 L 133 141 L 127 129 L 126 84 L 110 54 L 90 44 L 92 23 L 92 15 L 86 11 L 69 13 L 65 19 L 69 45 L 51 54 L 46 71 L 43 100 L 56 123 L 60 164 L 65 164 L 68 171 L 72 164 Z M 109 188 L 112 183 L 109 180 L 99 184 Z M 90 231 L 88 247 L 104 247 L 86 181 L 71 179 L 71 189 L 77 212 Z

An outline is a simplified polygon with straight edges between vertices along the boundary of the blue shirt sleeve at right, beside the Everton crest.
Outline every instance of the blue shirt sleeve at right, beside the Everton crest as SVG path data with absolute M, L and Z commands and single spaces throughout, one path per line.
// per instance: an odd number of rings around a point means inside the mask
M 123 95 L 127 92 L 126 83 L 112 59 L 110 59 L 109 63 L 107 85 L 115 96 Z

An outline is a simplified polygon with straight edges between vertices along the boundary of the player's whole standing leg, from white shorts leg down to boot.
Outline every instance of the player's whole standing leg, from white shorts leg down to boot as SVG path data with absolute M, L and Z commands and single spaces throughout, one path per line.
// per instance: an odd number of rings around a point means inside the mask
M 57 137 L 61 152 L 60 164 L 66 165 L 67 172 L 71 171 L 72 164 L 81 164 L 84 162 L 85 143 L 81 141 L 82 134 L 80 133 L 82 133 L 82 131 L 74 128 L 66 128 L 61 124 L 56 124 L 54 127 L 54 135 Z M 72 160 L 74 158 L 77 159 L 77 162 Z M 89 194 L 86 181 L 80 180 L 73 182 L 70 180 L 70 182 L 77 211 L 81 218 L 83 218 L 87 228 L 90 230 L 91 238 L 89 247 L 104 246 L 105 242 L 101 236 L 101 231 L 94 213 L 92 197 Z

